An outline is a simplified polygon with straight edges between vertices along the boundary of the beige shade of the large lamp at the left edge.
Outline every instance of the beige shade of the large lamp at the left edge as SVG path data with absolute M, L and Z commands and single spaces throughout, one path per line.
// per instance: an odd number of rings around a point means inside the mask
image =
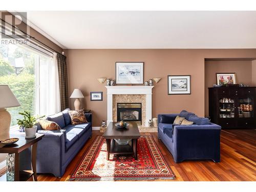
M 18 100 L 13 95 L 9 86 L 0 86 L 0 108 L 12 108 L 20 106 Z

